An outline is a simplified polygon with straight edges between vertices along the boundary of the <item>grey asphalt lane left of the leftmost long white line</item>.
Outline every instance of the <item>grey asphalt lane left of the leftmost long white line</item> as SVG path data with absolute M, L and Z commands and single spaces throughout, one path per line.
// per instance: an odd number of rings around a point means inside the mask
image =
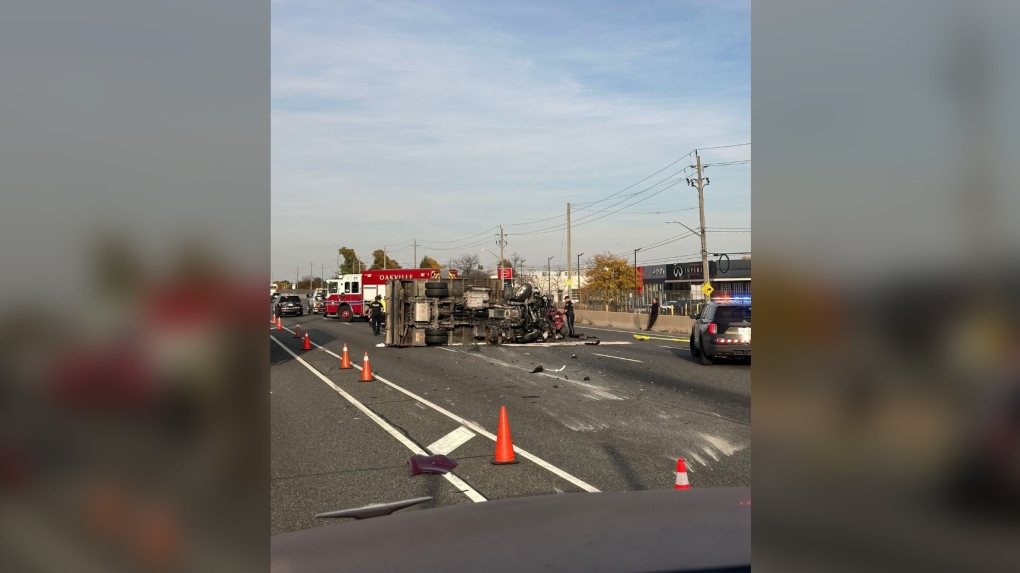
M 439 475 L 408 479 L 412 453 L 272 342 L 269 359 L 272 534 L 384 500 L 436 498 L 415 509 L 470 503 Z

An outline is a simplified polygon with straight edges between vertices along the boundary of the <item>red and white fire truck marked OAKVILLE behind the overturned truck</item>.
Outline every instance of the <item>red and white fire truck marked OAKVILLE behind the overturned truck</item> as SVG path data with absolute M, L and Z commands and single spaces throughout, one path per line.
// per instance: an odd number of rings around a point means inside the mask
M 399 268 L 366 270 L 357 274 L 344 274 L 340 278 L 329 278 L 326 283 L 326 299 L 322 316 L 339 318 L 350 322 L 355 317 L 366 318 L 365 309 L 368 303 L 381 295 L 386 299 L 386 283 L 395 278 L 400 279 L 439 279 L 442 273 L 438 268 Z M 457 277 L 457 270 L 451 269 L 448 276 Z

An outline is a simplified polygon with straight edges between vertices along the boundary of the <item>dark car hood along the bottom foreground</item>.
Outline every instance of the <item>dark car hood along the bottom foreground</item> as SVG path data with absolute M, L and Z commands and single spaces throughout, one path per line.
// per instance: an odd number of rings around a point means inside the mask
M 270 550 L 271 570 L 289 573 L 750 570 L 751 488 L 565 493 L 404 511 L 276 535 Z

